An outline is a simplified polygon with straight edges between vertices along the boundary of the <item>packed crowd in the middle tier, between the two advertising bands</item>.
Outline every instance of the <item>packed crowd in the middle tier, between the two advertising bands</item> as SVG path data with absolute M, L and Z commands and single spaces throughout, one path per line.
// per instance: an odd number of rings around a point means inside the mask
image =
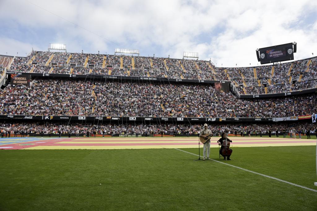
M 231 93 L 217 93 L 212 86 L 204 84 L 38 79 L 28 87 L 7 86 L 0 93 L 0 112 L 239 118 L 310 115 L 317 113 L 317 107 L 316 94 L 238 99 Z

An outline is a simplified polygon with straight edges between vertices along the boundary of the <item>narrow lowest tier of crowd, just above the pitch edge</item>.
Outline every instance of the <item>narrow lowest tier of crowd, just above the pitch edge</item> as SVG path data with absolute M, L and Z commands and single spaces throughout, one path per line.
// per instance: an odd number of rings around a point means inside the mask
M 0 122 L 0 131 L 4 133 L 80 133 L 86 134 L 87 131 L 96 134 L 198 134 L 202 129 L 202 124 L 94 124 L 88 122 Z M 231 134 L 251 134 L 255 133 L 287 133 L 291 129 L 295 129 L 296 133 L 301 134 L 315 133 L 317 131 L 316 124 L 312 123 L 275 123 L 275 124 L 214 124 L 208 125 L 213 133 L 227 132 Z

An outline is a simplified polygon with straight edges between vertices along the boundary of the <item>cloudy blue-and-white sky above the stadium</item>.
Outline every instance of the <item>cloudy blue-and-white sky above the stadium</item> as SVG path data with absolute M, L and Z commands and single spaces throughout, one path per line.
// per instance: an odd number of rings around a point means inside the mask
M 294 59 L 317 55 L 317 1 L 0 0 L 0 54 L 25 56 L 63 43 L 68 52 L 182 58 L 255 66 L 256 48 L 297 42 Z

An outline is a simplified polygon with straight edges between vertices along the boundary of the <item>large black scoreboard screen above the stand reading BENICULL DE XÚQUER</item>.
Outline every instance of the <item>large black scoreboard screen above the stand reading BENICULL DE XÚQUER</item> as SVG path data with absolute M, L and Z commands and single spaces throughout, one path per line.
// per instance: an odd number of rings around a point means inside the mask
M 293 43 L 260 48 L 261 64 L 294 60 Z

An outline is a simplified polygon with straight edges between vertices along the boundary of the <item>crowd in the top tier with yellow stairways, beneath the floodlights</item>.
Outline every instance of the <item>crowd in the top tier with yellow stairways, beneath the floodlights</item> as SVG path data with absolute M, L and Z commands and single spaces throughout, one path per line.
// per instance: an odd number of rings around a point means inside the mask
M 317 87 L 317 57 L 267 66 L 227 68 L 215 67 L 210 61 L 204 60 L 55 52 L 46 67 L 51 55 L 51 52 L 32 51 L 27 57 L 15 57 L 10 70 L 49 73 L 53 67 L 51 73 L 70 74 L 69 67 L 73 67 L 73 74 L 231 80 L 242 94 L 264 94 L 264 86 L 267 87 L 267 93 L 284 93 Z M 84 67 L 87 58 L 88 62 Z

